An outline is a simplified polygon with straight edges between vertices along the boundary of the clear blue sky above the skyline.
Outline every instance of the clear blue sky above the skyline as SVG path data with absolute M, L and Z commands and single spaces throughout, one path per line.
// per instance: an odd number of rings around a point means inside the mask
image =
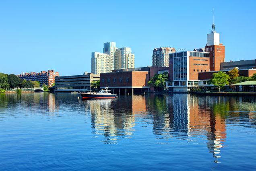
M 91 72 L 91 52 L 109 41 L 152 66 L 154 48 L 205 47 L 213 8 L 226 61 L 256 59 L 254 0 L 0 0 L 0 72 Z

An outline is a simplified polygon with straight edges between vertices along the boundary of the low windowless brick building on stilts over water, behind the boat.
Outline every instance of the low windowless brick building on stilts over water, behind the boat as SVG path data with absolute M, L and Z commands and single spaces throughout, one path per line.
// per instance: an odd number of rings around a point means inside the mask
M 100 74 L 100 87 L 109 87 L 112 93 L 133 93 L 149 91 L 148 81 L 159 71 L 168 67 L 142 67 L 113 70 Z M 151 90 L 154 90 L 151 88 Z

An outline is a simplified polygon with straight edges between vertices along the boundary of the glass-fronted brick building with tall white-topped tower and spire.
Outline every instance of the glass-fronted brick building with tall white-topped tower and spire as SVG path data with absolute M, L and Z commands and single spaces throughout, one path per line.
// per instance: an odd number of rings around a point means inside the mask
M 219 42 L 213 23 L 205 48 L 169 54 L 168 89 L 188 92 L 198 87 L 200 72 L 219 71 L 221 63 L 225 62 L 225 46 Z

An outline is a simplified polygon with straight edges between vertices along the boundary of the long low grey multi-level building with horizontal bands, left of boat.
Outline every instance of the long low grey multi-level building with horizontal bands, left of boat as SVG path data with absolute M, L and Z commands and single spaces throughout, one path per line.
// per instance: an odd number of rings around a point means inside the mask
M 91 82 L 99 80 L 99 74 L 58 76 L 55 78 L 55 92 L 90 91 Z

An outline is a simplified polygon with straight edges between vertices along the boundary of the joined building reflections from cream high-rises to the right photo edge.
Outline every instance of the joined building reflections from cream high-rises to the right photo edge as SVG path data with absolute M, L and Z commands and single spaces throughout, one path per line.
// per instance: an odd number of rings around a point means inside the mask
M 171 138 L 205 142 L 218 163 L 226 137 L 226 123 L 255 125 L 255 106 L 246 97 L 197 97 L 188 94 L 134 95 L 120 99 L 88 100 L 94 134 L 104 143 L 132 137 L 136 120 L 151 126 L 158 142 Z M 245 107 L 245 105 L 248 105 Z M 250 109 L 241 115 L 242 108 Z M 167 140 L 167 141 L 166 141 Z

